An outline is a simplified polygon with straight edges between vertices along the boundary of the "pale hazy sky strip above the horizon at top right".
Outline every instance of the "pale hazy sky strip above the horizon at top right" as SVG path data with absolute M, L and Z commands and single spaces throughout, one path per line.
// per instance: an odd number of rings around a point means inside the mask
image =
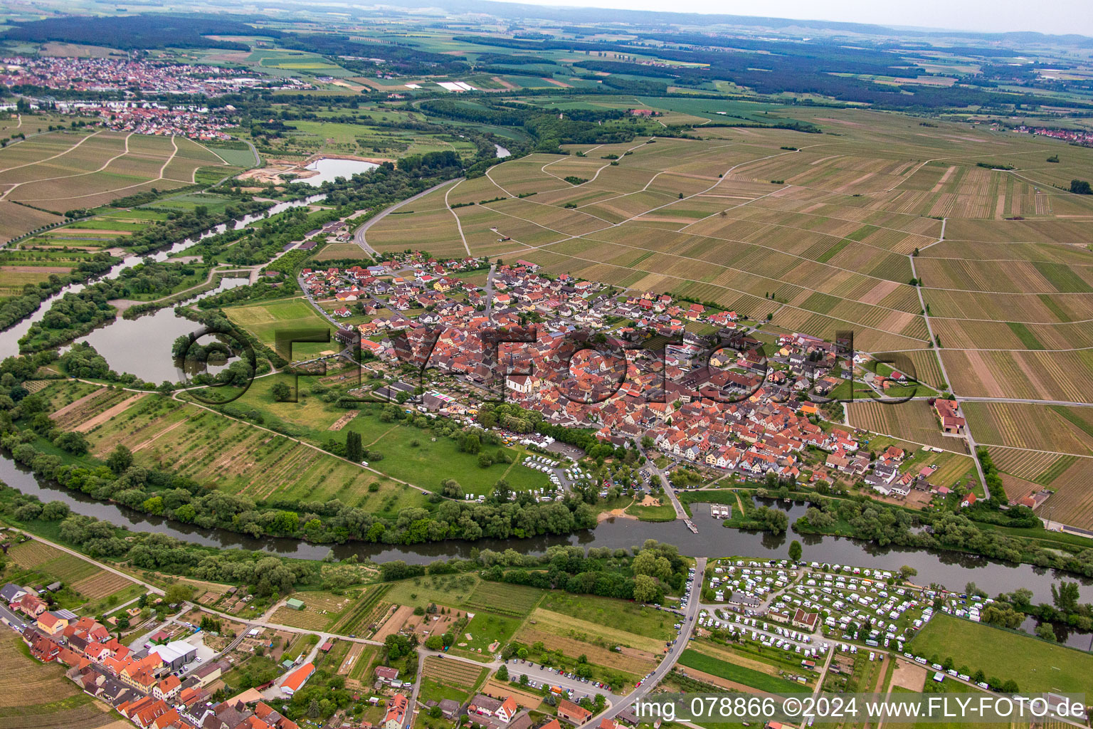
M 527 2 L 528 0 L 518 0 Z M 802 17 L 809 20 L 877 23 L 916 27 L 942 27 L 959 31 L 1039 31 L 1041 33 L 1080 33 L 1093 36 L 1093 2 L 1090 0 L 837 0 L 807 2 L 780 0 L 756 3 L 741 0 L 692 0 L 665 3 L 663 0 L 548 0 L 549 5 L 580 5 L 627 10 L 671 10 L 675 12 Z

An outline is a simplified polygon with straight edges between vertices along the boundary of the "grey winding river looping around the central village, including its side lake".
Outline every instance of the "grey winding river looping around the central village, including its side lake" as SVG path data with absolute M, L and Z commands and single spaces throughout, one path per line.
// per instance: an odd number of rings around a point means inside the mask
M 306 200 L 280 203 L 262 215 L 249 215 L 236 222 L 235 227 L 242 227 L 289 208 L 315 202 L 321 197 L 313 196 Z M 224 230 L 225 226 L 218 226 L 218 228 L 201 236 L 175 244 L 169 249 L 155 254 L 154 257 L 157 260 L 164 260 L 171 254 L 183 251 L 203 237 L 215 235 Z M 122 268 L 139 261 L 139 257 L 130 257 L 115 266 L 106 275 L 117 275 Z M 227 279 L 221 282 L 221 289 L 237 283 L 239 281 Z M 67 287 L 66 291 L 79 291 L 82 285 L 75 284 Z M 30 327 L 30 321 L 40 319 L 52 301 L 60 295 L 62 294 L 44 302 L 42 308 L 30 320 L 0 332 L 0 356 L 17 353 L 17 340 Z M 188 333 L 195 328 L 193 322 L 179 319 L 168 308 L 134 320 L 118 318 L 83 339 L 94 344 L 116 369 L 132 372 L 146 380 L 160 381 L 177 378 L 169 356 L 162 356 L 162 353 L 169 352 L 171 343 L 176 337 Z M 134 342 L 140 343 L 141 351 L 136 361 L 132 358 Z M 126 364 L 115 364 L 122 361 L 126 361 Z M 698 527 L 697 534 L 692 533 L 682 521 L 678 520 L 642 522 L 634 519 L 614 518 L 600 524 L 595 530 L 563 537 L 540 537 L 529 540 L 480 540 L 478 542 L 455 541 L 410 546 L 353 542 L 331 548 L 290 539 L 252 539 L 223 529 L 203 529 L 133 512 L 117 504 L 97 502 L 83 494 L 67 491 L 56 483 L 39 482 L 30 471 L 20 467 L 5 455 L 0 455 L 0 480 L 23 493 L 39 497 L 43 502 L 61 501 L 77 514 L 93 516 L 137 531 L 171 534 L 198 544 L 265 551 L 304 560 L 321 560 L 332 549 L 334 556 L 339 558 L 355 554 L 377 562 L 406 560 L 411 563 L 427 563 L 450 556 L 468 557 L 475 549 L 502 551 L 512 548 L 531 554 L 541 554 L 554 544 L 628 549 L 650 538 L 677 544 L 684 554 L 690 555 L 749 555 L 784 558 L 788 556 L 789 542 L 796 538 L 804 548 L 803 560 L 806 562 L 828 562 L 891 571 L 897 571 L 902 565 L 909 565 L 918 571 L 915 578 L 918 584 L 939 583 L 952 589 L 963 590 L 967 583 L 974 581 L 980 589 L 990 595 L 1008 592 L 1016 587 L 1026 587 L 1033 590 L 1037 602 L 1050 601 L 1050 587 L 1054 581 L 1062 578 L 1078 579 L 1081 584 L 1082 599 L 1093 601 L 1093 581 L 1076 578 L 1072 575 L 1042 569 L 1032 565 L 1003 564 L 960 553 L 881 548 L 870 542 L 837 537 L 795 537 L 791 533 L 775 537 L 767 533 L 740 531 L 724 527 L 721 521 L 710 516 L 709 506 L 705 504 L 696 504 L 693 507 L 693 520 Z M 784 504 L 780 502 L 776 506 L 788 513 L 790 522 L 801 516 L 807 508 L 804 504 Z M 1084 640 L 1086 645 L 1081 647 L 1088 648 L 1090 636 L 1076 632 L 1061 634 L 1060 630 L 1060 639 L 1065 639 L 1067 643 L 1074 642 L 1074 645 Z

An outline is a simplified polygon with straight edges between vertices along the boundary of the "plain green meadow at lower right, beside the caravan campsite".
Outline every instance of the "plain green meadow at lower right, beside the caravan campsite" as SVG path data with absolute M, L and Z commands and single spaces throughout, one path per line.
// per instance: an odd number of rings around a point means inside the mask
M 951 615 L 935 615 L 910 650 L 932 662 L 951 657 L 991 684 L 1012 679 L 1022 692 L 1093 690 L 1093 655 Z

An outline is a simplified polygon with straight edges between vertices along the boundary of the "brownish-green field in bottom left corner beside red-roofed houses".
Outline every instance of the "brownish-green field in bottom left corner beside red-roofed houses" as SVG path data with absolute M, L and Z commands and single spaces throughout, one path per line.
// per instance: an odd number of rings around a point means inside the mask
M 96 702 L 64 678 L 60 663 L 39 663 L 30 657 L 17 635 L 4 633 L 0 660 L 0 727 L 64 727 L 66 729 L 125 729 L 109 706 Z

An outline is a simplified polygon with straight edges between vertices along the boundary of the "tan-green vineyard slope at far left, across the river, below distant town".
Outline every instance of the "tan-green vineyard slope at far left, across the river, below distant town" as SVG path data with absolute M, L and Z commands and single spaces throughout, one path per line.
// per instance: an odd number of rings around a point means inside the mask
M 201 167 L 237 169 L 183 137 L 63 130 L 9 144 L 0 150 L 0 205 L 9 213 L 0 216 L 0 240 L 61 222 L 69 210 L 193 185 Z

